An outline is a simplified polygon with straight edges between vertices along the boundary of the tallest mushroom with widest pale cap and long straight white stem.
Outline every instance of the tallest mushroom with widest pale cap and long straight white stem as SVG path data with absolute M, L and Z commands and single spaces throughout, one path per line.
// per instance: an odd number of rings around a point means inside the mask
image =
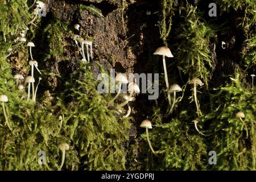
M 166 57 L 174 57 L 174 56 L 172 55 L 171 50 L 166 46 L 157 48 L 156 51 L 154 52 L 154 55 L 163 56 L 164 78 L 166 80 L 166 88 L 169 89 L 169 82 L 168 82 L 167 68 L 166 68 Z M 171 96 L 169 93 L 167 94 L 168 94 L 169 106 L 171 107 L 172 105 Z

